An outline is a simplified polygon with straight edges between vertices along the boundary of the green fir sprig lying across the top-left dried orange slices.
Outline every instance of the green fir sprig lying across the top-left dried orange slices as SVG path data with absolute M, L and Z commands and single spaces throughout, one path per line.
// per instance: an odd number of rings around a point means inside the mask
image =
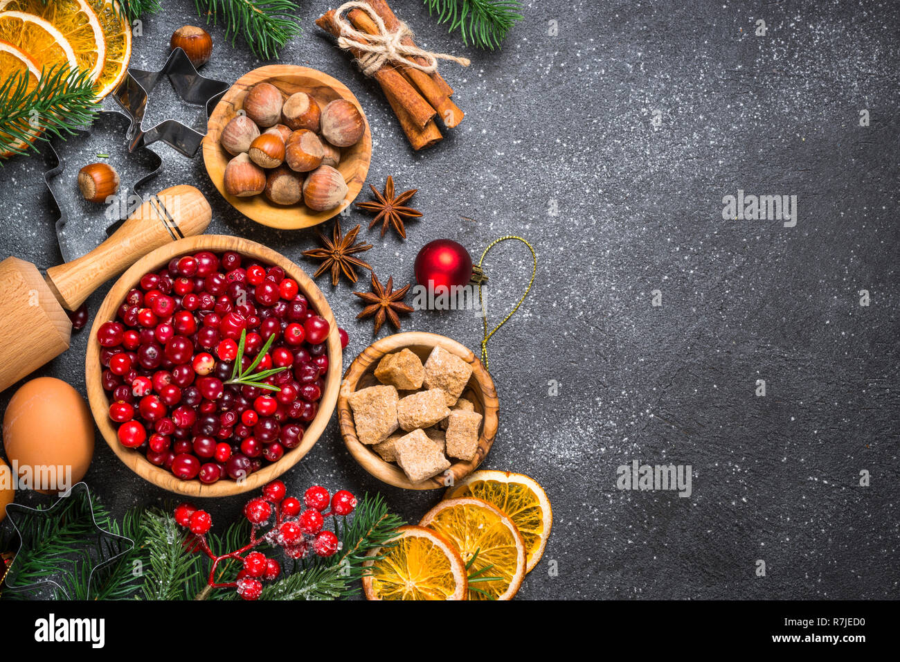
M 67 65 L 44 69 L 29 89 L 23 72 L 0 84 L 0 154 L 37 151 L 32 141 L 65 140 L 94 122 L 99 107 L 88 70 Z

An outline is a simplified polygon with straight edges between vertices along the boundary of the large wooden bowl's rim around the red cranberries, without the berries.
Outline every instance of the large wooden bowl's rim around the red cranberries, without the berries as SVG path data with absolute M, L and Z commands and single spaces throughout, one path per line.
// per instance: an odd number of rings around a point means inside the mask
M 216 253 L 233 250 L 242 256 L 257 258 L 269 265 L 278 265 L 284 269 L 284 273 L 288 277 L 297 281 L 301 294 L 306 296 L 311 307 L 324 317 L 330 326 L 327 340 L 329 370 L 325 375 L 325 388 L 322 390 L 322 397 L 319 401 L 319 413 L 316 414 L 316 417 L 303 431 L 300 445 L 294 449 L 285 449 L 284 457 L 277 462 L 262 467 L 259 471 L 250 474 L 243 480 L 235 481 L 230 478 L 222 478 L 211 485 L 204 485 L 199 478 L 182 480 L 166 468 L 151 464 L 137 450 L 127 449 L 119 443 L 116 436 L 116 428 L 109 418 L 110 400 L 106 392 L 103 391 L 101 382 L 103 367 L 100 364 L 101 347 L 97 341 L 97 331 L 100 329 L 100 326 L 103 322 L 116 319 L 116 311 L 122 301 L 124 301 L 125 295 L 128 294 L 132 287 L 138 285 L 140 277 L 149 271 L 157 271 L 163 268 L 172 258 L 200 250 L 211 250 Z M 94 316 L 94 325 L 87 340 L 87 357 L 85 358 L 88 402 L 91 405 L 91 412 L 94 414 L 97 427 L 100 429 L 103 439 L 106 440 L 112 452 L 125 463 L 125 466 L 153 485 L 176 494 L 198 497 L 241 494 L 266 485 L 266 483 L 281 476 L 285 471 L 297 464 L 304 455 L 310 452 L 329 423 L 331 413 L 334 412 L 335 404 L 338 401 L 341 369 L 338 323 L 335 322 L 334 315 L 331 313 L 331 308 L 325 300 L 325 296 L 322 295 L 319 287 L 311 281 L 310 277 L 303 272 L 302 268 L 293 264 L 288 258 L 276 253 L 275 250 L 268 249 L 256 241 L 215 234 L 202 234 L 166 244 L 166 246 L 156 249 L 148 253 L 144 258 L 139 259 L 128 271 L 122 274 L 115 285 L 112 286 L 106 298 L 103 299 L 100 310 Z

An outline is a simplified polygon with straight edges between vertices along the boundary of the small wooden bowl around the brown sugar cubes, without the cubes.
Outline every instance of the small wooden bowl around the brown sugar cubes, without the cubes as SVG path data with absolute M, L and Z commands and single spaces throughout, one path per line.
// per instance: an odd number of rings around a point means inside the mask
M 417 354 L 424 363 L 431 350 L 438 346 L 462 358 L 472 366 L 472 376 L 469 377 L 469 383 L 466 385 L 461 397 L 471 400 L 475 406 L 475 411 L 482 414 L 482 431 L 478 439 L 478 451 L 471 462 L 456 460 L 444 473 L 419 483 L 413 483 L 401 467 L 385 462 L 371 446 L 365 446 L 356 438 L 356 425 L 353 422 L 353 412 L 350 409 L 347 396 L 361 388 L 381 384 L 375 378 L 374 370 L 384 355 L 406 348 Z M 347 445 L 347 450 L 350 451 L 350 454 L 361 467 L 379 480 L 388 485 L 408 490 L 446 488 L 450 485 L 455 485 L 465 476 L 471 474 L 482 463 L 488 451 L 491 450 L 494 437 L 497 436 L 498 409 L 499 403 L 494 381 L 491 379 L 488 371 L 482 366 L 482 362 L 475 357 L 472 350 L 446 336 L 420 331 L 397 333 L 369 345 L 347 368 L 347 373 L 344 375 L 344 381 L 341 383 L 340 394 L 338 395 L 338 421 L 340 422 L 340 431 L 344 437 L 344 443 Z M 453 460 L 453 458 L 450 459 Z

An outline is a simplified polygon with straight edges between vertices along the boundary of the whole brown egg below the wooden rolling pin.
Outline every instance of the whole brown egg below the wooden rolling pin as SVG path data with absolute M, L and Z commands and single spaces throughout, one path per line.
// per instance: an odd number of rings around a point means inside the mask
M 94 457 L 94 419 L 85 399 L 61 379 L 38 377 L 13 395 L 3 445 L 19 487 L 57 494 L 85 477 Z

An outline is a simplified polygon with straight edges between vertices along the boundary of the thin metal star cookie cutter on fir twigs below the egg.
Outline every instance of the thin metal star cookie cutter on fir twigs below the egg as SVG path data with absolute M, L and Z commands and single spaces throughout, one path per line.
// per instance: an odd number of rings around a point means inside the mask
M 9 518 L 9 521 L 12 522 L 15 532 L 19 536 L 19 540 L 21 540 L 22 542 L 19 545 L 19 549 L 16 552 L 15 558 L 13 559 L 13 563 L 10 565 L 9 570 L 6 574 L 6 590 L 7 591 L 9 591 L 11 593 L 23 593 L 26 591 L 33 591 L 35 589 L 39 589 L 39 588 L 43 588 L 43 587 L 49 588 L 51 586 L 55 586 L 56 590 L 57 590 L 57 595 L 56 595 L 57 599 L 59 599 L 60 596 L 64 596 L 65 599 L 67 599 L 67 600 L 76 599 L 74 596 L 69 594 L 69 592 L 63 585 L 59 584 L 57 581 L 54 581 L 53 578 L 45 578 L 42 581 L 33 582 L 31 584 L 26 584 L 26 585 L 21 585 L 21 586 L 17 586 L 14 583 L 15 583 L 15 580 L 16 580 L 16 577 L 18 574 L 18 568 L 16 567 L 16 563 L 18 562 L 18 559 L 19 559 L 20 555 L 22 554 L 22 550 L 27 547 L 25 535 L 23 534 L 23 530 L 20 528 L 19 522 L 17 521 L 18 516 L 23 515 L 25 513 L 31 513 L 32 516 L 36 516 L 36 517 L 45 517 L 45 518 L 49 517 L 54 512 L 54 510 L 58 507 L 58 505 L 60 503 L 63 503 L 63 501 L 65 499 L 72 498 L 73 494 L 75 494 L 76 490 L 79 490 L 79 488 L 80 488 L 80 491 L 84 492 L 84 494 L 85 494 L 86 507 L 87 507 L 88 512 L 91 513 L 91 522 L 94 524 L 94 528 L 97 530 L 96 542 L 98 543 L 98 546 L 100 547 L 100 549 L 105 549 L 107 551 L 106 554 L 103 554 L 102 552 L 100 553 L 101 555 L 105 556 L 105 558 L 103 558 L 103 560 L 100 563 L 97 563 L 96 565 L 94 565 L 94 567 L 91 568 L 90 576 L 88 576 L 88 578 L 87 578 L 87 595 L 88 596 L 91 595 L 91 586 L 94 582 L 94 573 L 96 573 L 97 570 L 100 570 L 101 568 L 110 565 L 117 558 L 120 558 L 122 555 L 130 552 L 131 549 L 134 549 L 134 540 L 131 540 L 130 538 L 127 538 L 126 536 L 121 536 L 117 533 L 112 533 L 110 531 L 106 531 L 105 529 L 102 529 L 99 524 L 97 524 L 96 518 L 94 517 L 94 509 L 93 509 L 94 500 L 91 498 L 91 490 L 90 490 L 90 488 L 88 488 L 87 484 L 85 484 L 84 482 L 73 485 L 72 488 L 69 489 L 66 494 L 63 494 L 58 499 L 58 501 L 56 503 L 53 503 L 53 505 L 51 505 L 49 508 L 44 508 L 44 509 L 30 508 L 28 506 L 22 505 L 21 503 L 10 503 L 9 505 L 6 506 L 6 515 Z M 99 543 L 101 543 L 101 539 L 106 539 L 106 540 L 112 539 L 112 542 L 108 543 L 105 546 L 105 548 L 103 548 L 103 546 L 99 544 Z M 92 541 L 92 544 L 93 544 L 93 541 Z M 89 547 L 88 545 L 85 545 L 85 549 L 87 549 L 88 547 Z M 72 566 L 73 567 L 71 568 L 70 572 L 72 572 L 72 573 L 77 572 L 77 569 L 75 567 L 76 562 L 74 560 L 72 561 Z M 56 577 L 56 578 L 58 578 L 58 577 Z

